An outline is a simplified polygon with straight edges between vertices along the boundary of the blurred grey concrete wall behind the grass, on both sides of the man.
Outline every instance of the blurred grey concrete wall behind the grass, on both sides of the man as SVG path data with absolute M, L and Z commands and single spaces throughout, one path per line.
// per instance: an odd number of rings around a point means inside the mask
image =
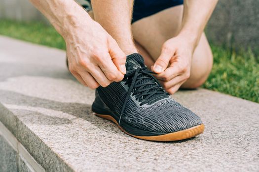
M 47 23 L 29 0 L 0 0 L 0 18 Z M 219 0 L 206 32 L 215 44 L 259 51 L 259 0 Z

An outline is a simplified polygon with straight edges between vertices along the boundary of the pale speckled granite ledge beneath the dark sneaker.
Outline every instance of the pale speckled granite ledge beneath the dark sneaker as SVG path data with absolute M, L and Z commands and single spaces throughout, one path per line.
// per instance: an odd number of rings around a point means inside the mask
M 73 79 L 65 55 L 0 37 L 0 121 L 46 171 L 259 171 L 259 104 L 180 91 L 173 98 L 202 118 L 204 134 L 138 140 L 93 115 L 94 91 Z

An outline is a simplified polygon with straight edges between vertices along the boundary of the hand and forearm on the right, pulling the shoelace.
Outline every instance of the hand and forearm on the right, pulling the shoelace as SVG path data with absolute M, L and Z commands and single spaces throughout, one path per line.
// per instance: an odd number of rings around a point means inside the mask
M 170 93 L 175 93 L 190 76 L 191 57 L 218 0 L 184 0 L 178 36 L 167 40 L 152 70 Z M 206 8 L 200 8 L 200 4 Z M 169 67 L 168 67 L 169 65 Z

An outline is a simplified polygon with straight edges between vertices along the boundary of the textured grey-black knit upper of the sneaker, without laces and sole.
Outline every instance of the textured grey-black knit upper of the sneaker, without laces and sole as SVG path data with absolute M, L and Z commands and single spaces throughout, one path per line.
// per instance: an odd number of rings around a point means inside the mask
M 127 57 L 127 71 L 143 66 L 144 60 L 141 55 L 133 54 Z M 111 83 L 105 88 L 100 86 L 97 89 L 102 101 L 117 117 L 120 116 L 129 86 L 125 85 L 125 80 L 123 80 Z M 158 98 L 151 103 L 140 105 L 142 99 L 136 100 L 136 96 L 131 94 L 121 115 L 121 120 L 135 128 L 159 133 L 177 132 L 202 124 L 197 115 L 177 103 L 169 95 L 162 94 L 161 97 L 159 95 L 156 97 Z

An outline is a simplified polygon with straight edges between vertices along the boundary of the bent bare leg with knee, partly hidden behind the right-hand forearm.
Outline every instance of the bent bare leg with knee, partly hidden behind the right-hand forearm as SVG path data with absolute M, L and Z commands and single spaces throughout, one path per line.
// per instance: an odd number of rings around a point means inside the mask
M 143 47 L 139 51 L 145 61 L 148 59 L 155 61 L 161 53 L 163 43 L 178 34 L 182 16 L 183 5 L 179 5 L 141 19 L 132 25 L 133 37 Z M 153 63 L 148 61 L 147 65 L 150 67 Z M 212 52 L 206 36 L 203 34 L 193 53 L 190 78 L 182 87 L 201 86 L 209 76 L 212 64 Z

